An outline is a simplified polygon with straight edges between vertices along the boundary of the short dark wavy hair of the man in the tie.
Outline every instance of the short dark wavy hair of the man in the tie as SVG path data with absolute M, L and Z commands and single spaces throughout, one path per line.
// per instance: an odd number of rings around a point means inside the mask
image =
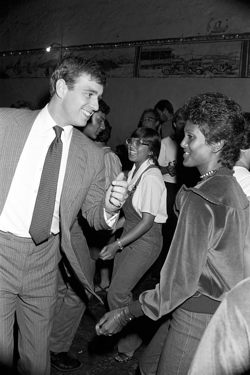
M 69 90 L 73 90 L 78 78 L 82 75 L 90 76 L 91 80 L 96 81 L 103 87 L 106 86 L 106 74 L 99 64 L 89 58 L 70 54 L 64 57 L 52 72 L 49 82 L 51 97 L 56 92 L 56 83 L 60 78 L 66 82 Z

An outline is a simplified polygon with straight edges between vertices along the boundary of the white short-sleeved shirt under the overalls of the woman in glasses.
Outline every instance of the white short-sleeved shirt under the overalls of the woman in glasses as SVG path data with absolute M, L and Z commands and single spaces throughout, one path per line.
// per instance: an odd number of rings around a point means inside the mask
M 130 191 L 142 172 L 152 164 L 153 162 L 146 160 L 134 176 L 133 172 L 135 171 L 135 164 L 133 165 L 133 168 L 127 177 Z M 142 217 L 142 212 L 148 212 L 155 216 L 154 222 L 165 223 L 168 218 L 166 200 L 167 190 L 160 170 L 158 168 L 148 169 L 148 171 L 144 172 L 142 175 L 141 181 L 133 193 L 133 207 L 139 216 Z

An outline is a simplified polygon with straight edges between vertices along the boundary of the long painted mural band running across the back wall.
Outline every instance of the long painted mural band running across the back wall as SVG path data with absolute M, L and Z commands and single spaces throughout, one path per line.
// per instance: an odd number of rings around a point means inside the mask
M 227 20 L 208 21 L 205 36 L 58 46 L 0 52 L 0 78 L 45 78 L 60 57 L 96 60 L 108 77 L 250 78 L 250 33 L 228 34 Z

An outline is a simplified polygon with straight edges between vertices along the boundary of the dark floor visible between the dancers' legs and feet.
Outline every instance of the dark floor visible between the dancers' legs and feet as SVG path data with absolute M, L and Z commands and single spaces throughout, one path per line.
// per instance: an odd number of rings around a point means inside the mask
M 95 283 L 98 284 L 98 276 Z M 133 291 L 134 299 L 138 299 L 139 294 L 148 289 L 153 289 L 156 281 L 152 280 L 151 273 L 147 273 L 136 285 Z M 103 302 L 106 300 L 106 293 L 99 293 Z M 70 355 L 79 359 L 81 368 L 75 371 L 68 371 L 71 375 L 139 375 L 139 358 L 147 346 L 148 342 L 159 327 L 159 322 L 154 322 L 147 317 L 136 320 L 136 329 L 142 337 L 142 345 L 136 351 L 133 359 L 127 363 L 118 363 L 114 356 L 116 350 L 113 349 L 114 336 L 97 336 L 95 334 L 95 324 L 105 314 L 105 305 L 102 305 L 96 298 L 92 298 L 86 309 L 78 331 L 75 335 L 73 345 L 70 348 Z M 145 330 L 147 327 L 147 330 Z M 64 372 L 65 373 L 65 372 Z M 51 375 L 59 375 L 63 372 L 51 367 Z

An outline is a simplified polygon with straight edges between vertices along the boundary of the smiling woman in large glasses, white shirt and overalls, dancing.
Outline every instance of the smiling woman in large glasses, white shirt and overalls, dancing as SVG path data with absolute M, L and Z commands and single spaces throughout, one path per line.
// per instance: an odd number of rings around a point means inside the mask
M 166 187 L 158 168 L 160 135 L 153 129 L 136 129 L 126 139 L 129 159 L 134 162 L 128 175 L 129 198 L 123 205 L 124 216 L 117 227 L 123 226 L 120 239 L 105 246 L 102 260 L 114 259 L 108 304 L 112 310 L 132 302 L 131 290 L 157 259 L 162 249 L 162 223 L 167 219 Z M 118 340 L 118 362 L 130 360 L 141 345 L 136 333 Z

